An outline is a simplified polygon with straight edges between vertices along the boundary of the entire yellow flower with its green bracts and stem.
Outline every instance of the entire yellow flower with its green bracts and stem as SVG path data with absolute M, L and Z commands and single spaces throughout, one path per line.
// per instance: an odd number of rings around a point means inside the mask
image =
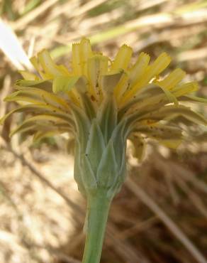
M 176 148 L 182 139 L 180 127 L 169 120 L 181 116 L 207 124 L 201 114 L 180 102 L 203 102 L 191 92 L 196 82 L 181 83 L 185 73 L 177 68 L 162 79 L 170 63 L 162 53 L 153 63 L 141 53 L 130 64 L 133 50 L 123 45 L 114 60 L 91 50 L 83 38 L 72 45 L 72 70 L 56 65 L 47 50 L 31 58 L 38 75 L 21 71 L 25 80 L 16 82 L 16 92 L 6 101 L 20 107 L 9 112 L 28 112 L 11 134 L 34 133 L 34 139 L 68 132 L 75 139 L 74 178 L 86 197 L 86 247 L 84 263 L 97 263 L 108 210 L 126 175 L 126 140 L 141 158 L 145 139 Z

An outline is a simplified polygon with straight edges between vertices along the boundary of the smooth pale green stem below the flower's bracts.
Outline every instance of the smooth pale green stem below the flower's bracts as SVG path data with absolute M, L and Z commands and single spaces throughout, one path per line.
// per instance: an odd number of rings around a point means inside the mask
M 111 199 L 100 192 L 90 196 L 86 215 L 86 243 L 82 263 L 99 263 Z

